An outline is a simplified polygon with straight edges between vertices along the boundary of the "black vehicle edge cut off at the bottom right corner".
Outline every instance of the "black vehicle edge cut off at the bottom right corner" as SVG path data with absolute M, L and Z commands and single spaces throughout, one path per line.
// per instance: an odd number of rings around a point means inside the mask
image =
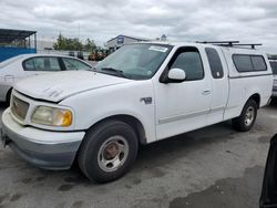
M 277 207 L 277 134 L 270 141 L 259 207 Z

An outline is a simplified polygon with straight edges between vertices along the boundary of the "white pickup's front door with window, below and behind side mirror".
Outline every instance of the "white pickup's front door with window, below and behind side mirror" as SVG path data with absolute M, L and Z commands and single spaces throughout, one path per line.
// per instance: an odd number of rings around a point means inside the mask
M 154 84 L 156 105 L 156 137 L 166 138 L 203 127 L 212 102 L 211 73 L 203 61 L 205 51 L 195 46 L 176 50 L 165 70 L 181 69 L 186 73 L 182 83 Z

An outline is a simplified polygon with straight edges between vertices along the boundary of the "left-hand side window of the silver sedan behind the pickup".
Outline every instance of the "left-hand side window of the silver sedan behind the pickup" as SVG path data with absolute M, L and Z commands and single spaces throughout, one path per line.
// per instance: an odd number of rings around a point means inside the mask
M 32 58 L 24 62 L 25 71 L 60 71 L 58 58 Z

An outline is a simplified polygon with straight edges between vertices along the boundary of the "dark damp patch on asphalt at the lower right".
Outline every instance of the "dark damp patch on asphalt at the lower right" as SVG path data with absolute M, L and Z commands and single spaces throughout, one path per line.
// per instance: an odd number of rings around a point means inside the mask
M 257 190 L 260 190 L 261 180 L 257 183 L 257 178 L 263 178 L 263 167 L 248 168 L 240 178 L 220 179 L 203 191 L 193 193 L 184 198 L 175 198 L 171 201 L 170 208 L 258 207 L 259 191 Z M 257 200 L 246 200 L 248 198 Z

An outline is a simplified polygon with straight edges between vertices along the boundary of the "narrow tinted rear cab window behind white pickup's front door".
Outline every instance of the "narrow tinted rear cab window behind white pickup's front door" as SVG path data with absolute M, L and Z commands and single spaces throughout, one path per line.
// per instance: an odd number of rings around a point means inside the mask
M 205 49 L 212 75 L 214 79 L 222 79 L 224 75 L 223 65 L 217 51 L 213 48 Z

